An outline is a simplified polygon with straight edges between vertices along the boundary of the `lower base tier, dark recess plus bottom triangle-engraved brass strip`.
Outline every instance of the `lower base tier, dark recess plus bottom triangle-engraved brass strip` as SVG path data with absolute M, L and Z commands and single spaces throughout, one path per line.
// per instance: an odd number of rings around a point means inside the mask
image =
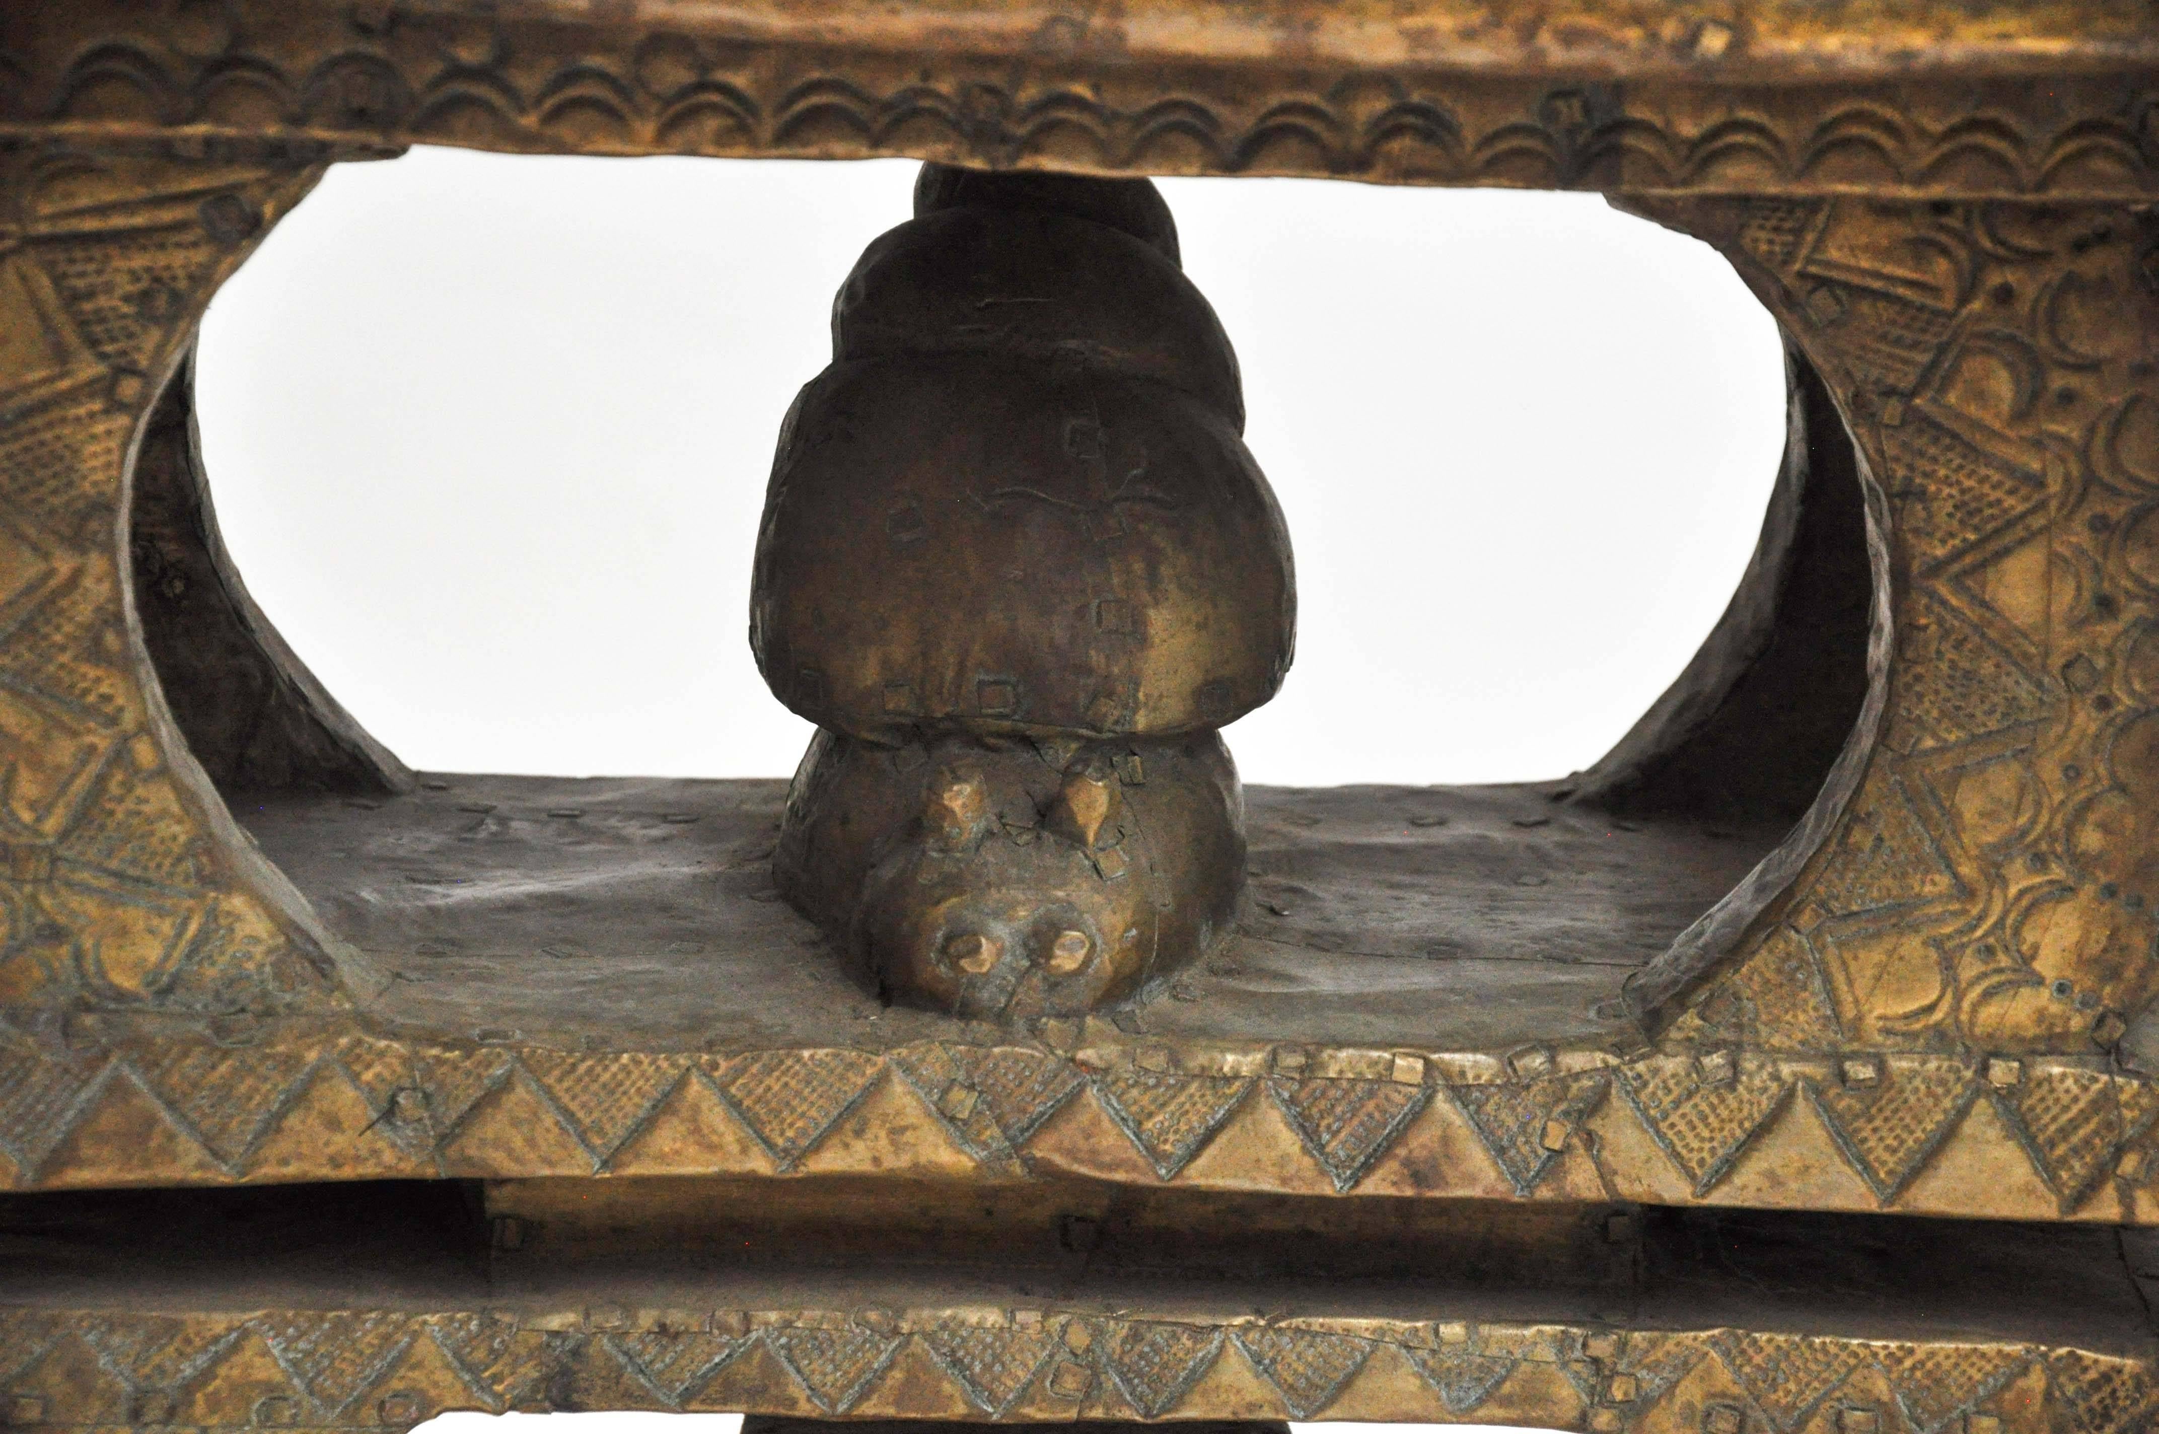
M 1339 1225 L 1315 1201 L 1142 1207 L 1099 1188 L 954 1216 L 892 1181 L 522 1181 L 492 1188 L 479 1225 L 458 1196 L 0 1203 L 13 1421 L 402 1430 L 449 1408 L 643 1408 L 2142 1434 L 2159 1412 L 2133 1274 L 2148 1250 L 2109 1231 L 1431 1201 Z

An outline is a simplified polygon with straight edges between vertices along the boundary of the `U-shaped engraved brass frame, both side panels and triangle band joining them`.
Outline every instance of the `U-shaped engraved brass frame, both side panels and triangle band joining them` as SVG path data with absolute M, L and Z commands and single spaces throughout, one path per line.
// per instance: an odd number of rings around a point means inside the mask
M 2159 1218 L 2159 1093 L 2107 1060 L 2150 998 L 2159 896 L 2140 875 L 2159 397 L 2133 214 L 1755 199 L 1675 220 L 1725 242 L 1839 376 L 1885 488 L 1880 752 L 1658 1050 L 1377 1052 L 1341 1069 L 1380 1076 L 1336 1080 L 1108 1028 L 680 1056 L 391 1041 L 335 1017 L 335 972 L 274 877 L 173 775 L 112 546 L 130 432 L 175 346 L 313 173 L 11 158 L 9 1183 L 1017 1160 L 1319 1192 Z

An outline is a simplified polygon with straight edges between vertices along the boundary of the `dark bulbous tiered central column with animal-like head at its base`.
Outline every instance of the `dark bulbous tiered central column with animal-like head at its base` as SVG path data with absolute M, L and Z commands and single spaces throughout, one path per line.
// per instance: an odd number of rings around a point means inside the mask
M 820 728 L 779 890 L 890 1000 L 1082 1013 L 1235 931 L 1218 728 L 1295 626 L 1241 432 L 1144 179 L 931 164 L 848 274 L 779 434 L 751 646 Z

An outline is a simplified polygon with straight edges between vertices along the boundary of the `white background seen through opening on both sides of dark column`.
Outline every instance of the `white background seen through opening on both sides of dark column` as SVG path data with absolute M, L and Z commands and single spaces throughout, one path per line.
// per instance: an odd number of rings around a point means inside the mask
M 779 415 L 915 166 L 335 168 L 203 324 L 218 516 L 352 713 L 443 771 L 784 775 L 749 553 Z M 1775 326 L 1593 194 L 1162 181 L 1295 544 L 1250 782 L 1593 762 L 1747 564 Z

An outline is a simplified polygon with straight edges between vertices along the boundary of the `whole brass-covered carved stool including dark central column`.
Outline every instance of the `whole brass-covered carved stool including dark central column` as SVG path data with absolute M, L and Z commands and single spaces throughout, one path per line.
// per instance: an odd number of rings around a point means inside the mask
M 0 127 L 0 1423 L 2159 1423 L 2148 4 L 76 0 Z M 412 143 L 950 166 L 775 473 L 792 803 L 410 773 L 248 603 L 194 324 Z M 1602 190 L 1783 324 L 1593 771 L 1239 821 L 1287 544 L 1151 173 Z

